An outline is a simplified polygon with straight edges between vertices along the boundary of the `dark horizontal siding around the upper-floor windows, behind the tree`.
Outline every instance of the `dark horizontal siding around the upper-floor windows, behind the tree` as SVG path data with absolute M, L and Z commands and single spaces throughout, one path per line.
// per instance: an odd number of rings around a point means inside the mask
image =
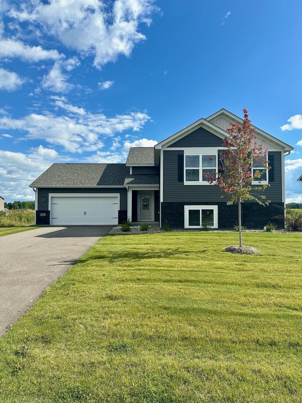
M 188 202 L 199 199 L 202 202 L 228 201 L 221 199 L 223 194 L 219 186 L 214 185 L 184 185 L 178 182 L 178 154 L 184 154 L 183 150 L 163 151 L 163 202 Z M 263 192 L 271 202 L 282 202 L 282 179 L 281 179 L 281 151 L 269 152 L 274 155 L 274 181 L 270 182 Z M 256 185 L 255 185 L 256 186 Z

